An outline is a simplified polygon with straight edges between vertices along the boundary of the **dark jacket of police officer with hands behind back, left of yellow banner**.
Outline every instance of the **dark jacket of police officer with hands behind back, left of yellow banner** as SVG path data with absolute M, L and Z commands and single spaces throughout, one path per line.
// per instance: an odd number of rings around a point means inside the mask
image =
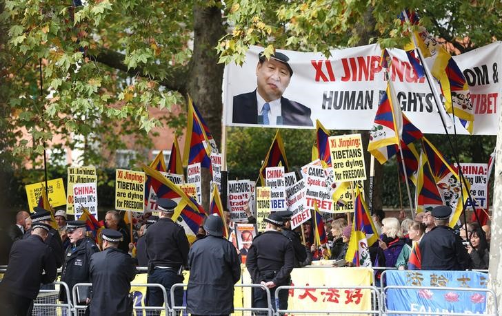
M 290 285 L 294 265 L 293 246 L 279 231 L 265 231 L 254 238 L 245 260 L 253 283 L 272 281 Z

